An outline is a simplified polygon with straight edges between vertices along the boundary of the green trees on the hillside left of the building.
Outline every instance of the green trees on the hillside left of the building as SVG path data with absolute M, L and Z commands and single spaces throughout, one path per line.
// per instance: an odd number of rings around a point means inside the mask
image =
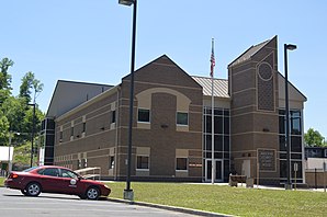
M 0 60 L 0 145 L 8 145 L 9 133 L 12 132 L 12 142 L 20 147 L 26 141 L 31 141 L 33 130 L 33 106 L 30 106 L 33 99 L 35 104 L 35 130 L 41 130 L 41 122 L 44 113 L 35 103 L 36 96 L 43 90 L 43 83 L 37 80 L 33 72 L 29 71 L 22 78 L 20 94 L 11 94 L 11 76 L 9 73 L 13 61 L 9 58 Z M 18 134 L 20 133 L 20 135 Z M 19 136 L 18 136 L 19 135 Z M 31 151 L 30 151 L 31 153 Z M 24 158 L 24 157 L 23 157 Z M 19 160 L 25 162 L 25 160 Z

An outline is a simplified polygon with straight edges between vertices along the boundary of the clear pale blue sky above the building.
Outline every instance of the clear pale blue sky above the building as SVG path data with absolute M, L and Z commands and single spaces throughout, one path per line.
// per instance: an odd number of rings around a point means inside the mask
M 57 80 L 119 84 L 131 66 L 133 7 L 119 0 L 1 0 L 0 58 L 14 61 L 13 94 L 34 72 L 44 83 L 36 103 L 47 111 Z M 166 54 L 191 76 L 215 77 L 251 45 L 278 35 L 279 71 L 306 95 L 304 128 L 327 138 L 327 1 L 138 0 L 136 69 Z

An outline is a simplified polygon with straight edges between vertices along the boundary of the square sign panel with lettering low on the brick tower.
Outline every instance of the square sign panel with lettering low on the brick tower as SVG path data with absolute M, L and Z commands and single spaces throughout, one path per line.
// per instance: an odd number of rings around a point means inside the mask
M 260 171 L 275 171 L 275 150 L 258 149 L 258 161 Z

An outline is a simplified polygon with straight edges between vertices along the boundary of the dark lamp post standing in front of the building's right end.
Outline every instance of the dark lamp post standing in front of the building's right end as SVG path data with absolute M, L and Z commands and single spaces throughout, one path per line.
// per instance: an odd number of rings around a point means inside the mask
M 289 102 L 289 75 L 287 75 L 287 49 L 296 49 L 296 45 L 284 44 L 284 67 L 285 67 L 285 114 L 286 114 L 286 129 L 285 129 L 285 146 L 286 146 L 286 171 L 287 181 L 285 190 L 292 190 L 291 182 L 291 139 L 290 139 L 290 102 Z

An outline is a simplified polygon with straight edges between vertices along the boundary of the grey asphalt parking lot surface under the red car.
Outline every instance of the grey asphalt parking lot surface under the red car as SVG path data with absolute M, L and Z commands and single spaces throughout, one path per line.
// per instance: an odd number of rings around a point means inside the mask
M 44 194 L 29 197 L 20 191 L 0 187 L 0 217 L 190 217 L 180 212 L 148 206 L 115 203 L 110 201 L 86 201 L 77 196 Z

